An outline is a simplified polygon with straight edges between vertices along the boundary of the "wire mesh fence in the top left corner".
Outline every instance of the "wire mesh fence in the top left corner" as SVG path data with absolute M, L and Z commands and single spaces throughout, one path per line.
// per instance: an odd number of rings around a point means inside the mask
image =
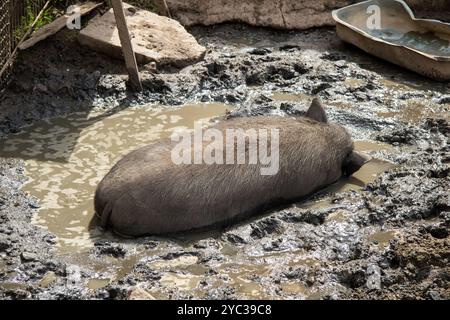
M 0 0 L 0 90 L 11 73 L 14 49 L 46 0 Z M 6 68 L 6 69 L 5 69 Z

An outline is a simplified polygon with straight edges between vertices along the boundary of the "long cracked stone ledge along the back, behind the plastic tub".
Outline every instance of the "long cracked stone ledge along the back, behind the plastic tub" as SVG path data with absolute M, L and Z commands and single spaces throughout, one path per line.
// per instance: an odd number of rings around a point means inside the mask
M 162 1 L 156 0 L 162 10 Z M 331 11 L 357 0 L 166 0 L 184 26 L 236 21 L 253 26 L 307 29 L 332 26 Z M 449 9 L 449 0 L 407 0 L 414 9 Z

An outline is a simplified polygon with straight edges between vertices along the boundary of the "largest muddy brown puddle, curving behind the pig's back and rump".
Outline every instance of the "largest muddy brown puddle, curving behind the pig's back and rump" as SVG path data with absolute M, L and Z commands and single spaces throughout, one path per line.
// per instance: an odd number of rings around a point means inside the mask
M 58 237 L 61 252 L 88 248 L 101 236 L 91 226 L 98 182 L 122 156 L 194 121 L 222 116 L 223 104 L 75 113 L 40 122 L 3 142 L 0 156 L 25 160 L 23 190 L 40 201 L 34 223 Z

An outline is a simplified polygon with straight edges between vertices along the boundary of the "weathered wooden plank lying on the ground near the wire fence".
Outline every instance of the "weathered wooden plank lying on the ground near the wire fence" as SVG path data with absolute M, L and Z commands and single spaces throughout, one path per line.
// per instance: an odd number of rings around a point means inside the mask
M 96 3 L 96 2 L 87 2 L 82 5 L 80 5 L 80 14 L 82 16 L 88 14 L 89 12 L 95 10 L 96 8 L 103 5 L 103 3 Z M 34 32 L 31 37 L 24 41 L 20 46 L 20 50 L 28 49 L 32 46 L 34 46 L 36 43 L 47 39 L 51 35 L 54 35 L 61 29 L 63 29 L 66 24 L 67 20 L 70 18 L 70 15 L 66 14 L 62 17 L 57 18 L 55 21 L 43 26 L 42 28 L 38 29 L 36 32 Z

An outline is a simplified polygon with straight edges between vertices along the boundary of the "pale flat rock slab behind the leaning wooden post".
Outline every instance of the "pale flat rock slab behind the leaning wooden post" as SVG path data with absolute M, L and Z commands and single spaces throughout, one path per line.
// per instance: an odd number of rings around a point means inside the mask
M 205 48 L 179 22 L 124 3 L 128 28 L 138 63 L 183 67 L 203 59 Z M 96 51 L 120 58 L 122 48 L 114 12 L 92 19 L 79 41 Z

